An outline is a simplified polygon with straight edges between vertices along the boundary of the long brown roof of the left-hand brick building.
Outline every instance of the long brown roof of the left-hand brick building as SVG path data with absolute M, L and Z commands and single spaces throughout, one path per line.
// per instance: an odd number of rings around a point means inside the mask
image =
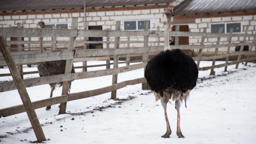
M 86 7 L 169 3 L 174 0 L 86 0 Z M 82 9 L 83 0 L 2 0 L 0 11 Z

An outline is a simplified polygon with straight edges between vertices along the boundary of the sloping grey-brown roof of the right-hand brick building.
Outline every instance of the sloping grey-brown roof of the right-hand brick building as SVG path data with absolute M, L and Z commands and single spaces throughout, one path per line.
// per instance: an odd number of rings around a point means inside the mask
M 211 14 L 252 10 L 256 10 L 256 0 L 184 0 L 173 9 L 173 14 Z

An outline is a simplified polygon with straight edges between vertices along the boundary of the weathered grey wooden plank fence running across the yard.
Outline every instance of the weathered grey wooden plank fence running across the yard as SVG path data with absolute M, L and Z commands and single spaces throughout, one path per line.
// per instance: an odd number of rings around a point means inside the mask
M 76 25 L 74 22 L 72 26 Z M 145 22 L 146 24 L 146 22 Z M 147 25 L 146 25 L 147 26 Z M 70 72 L 65 72 L 65 74 L 61 75 L 52 75 L 46 77 L 36 77 L 31 79 L 24 79 L 25 87 L 38 86 L 42 84 L 50 84 L 55 82 L 67 82 L 77 79 L 87 79 L 92 77 L 101 77 L 106 75 L 113 75 L 112 85 L 108 87 L 103 87 L 100 89 L 83 91 L 79 93 L 67 93 L 62 91 L 62 96 L 57 96 L 54 98 L 43 99 L 40 101 L 34 101 L 32 104 L 35 109 L 42 108 L 49 105 L 55 105 L 59 103 L 67 103 L 67 101 L 73 101 L 82 98 L 88 98 L 91 96 L 97 96 L 99 94 L 104 94 L 108 92 L 112 92 L 111 98 L 116 98 L 115 91 L 127 85 L 134 84 L 143 84 L 143 89 L 149 89 L 146 84 L 145 78 L 134 79 L 130 81 L 124 81 L 117 83 L 116 77 L 118 74 L 123 72 L 128 72 L 131 70 L 142 69 L 145 68 L 148 61 L 148 53 L 153 51 L 162 51 L 164 46 L 148 46 L 149 36 L 164 36 L 164 31 L 149 31 L 145 26 L 144 31 L 120 31 L 118 27 L 120 27 L 120 23 L 116 22 L 117 29 L 115 31 L 97 31 L 97 30 L 80 30 L 76 27 L 73 29 L 40 29 L 40 28 L 0 28 L 0 35 L 4 37 L 70 37 L 69 40 L 69 50 L 63 52 L 47 52 L 47 53 L 27 53 L 27 54 L 17 54 L 13 55 L 14 61 L 16 65 L 22 65 L 27 63 L 35 63 L 35 62 L 45 62 L 45 61 L 53 61 L 53 60 L 67 60 L 66 69 L 70 68 L 70 65 L 73 61 L 81 60 L 103 60 L 104 58 L 109 58 L 110 56 L 114 57 L 114 68 L 105 69 L 105 70 L 97 70 L 97 71 L 89 71 L 89 72 L 78 72 L 71 74 Z M 240 62 L 248 62 L 256 60 L 256 53 L 253 51 L 253 46 L 255 46 L 255 36 L 256 34 L 247 34 L 248 27 L 246 28 L 245 34 L 233 34 L 232 31 L 230 34 L 223 33 L 206 33 L 206 29 L 203 33 L 191 33 L 191 32 L 179 32 L 179 31 L 170 31 L 170 36 L 200 36 L 202 37 L 201 45 L 171 45 L 171 49 L 180 48 L 182 50 L 192 50 L 199 49 L 198 57 L 193 57 L 195 61 L 197 61 L 197 66 L 199 70 L 209 70 L 211 69 L 211 74 L 214 74 L 214 68 L 227 67 L 228 65 L 236 64 L 237 67 Z M 120 37 L 122 36 L 144 36 L 144 47 L 136 47 L 136 48 L 119 48 Z M 243 43 L 231 43 L 232 37 L 244 37 Z M 89 49 L 89 50 L 73 50 L 74 45 L 76 43 L 76 37 L 115 37 L 115 48 L 104 48 L 104 49 Z M 215 45 L 204 45 L 204 38 L 218 38 L 218 41 Z M 229 38 L 228 44 L 219 44 L 220 38 Z M 252 42 L 246 42 L 246 37 L 253 37 Z M 178 38 L 176 38 L 176 41 Z M 176 42 L 175 43 L 178 43 Z M 10 42 L 12 44 L 13 42 Z M 25 42 L 19 42 L 22 44 Z M 86 42 L 87 43 L 87 42 Z M 230 53 L 230 47 L 232 46 L 241 46 L 249 45 L 249 51 L 240 51 Z M 228 47 L 227 54 L 225 55 L 216 55 L 218 52 L 218 48 Z M 202 50 L 205 48 L 214 48 L 215 52 L 213 56 L 203 57 Z M 131 55 L 132 53 L 143 53 L 143 62 L 135 65 L 126 65 L 124 67 L 118 67 L 118 55 Z M 237 55 L 238 59 L 229 62 L 228 58 L 230 56 Z M 242 55 L 246 55 L 246 57 L 242 58 Z M 226 58 L 226 62 L 220 65 L 215 65 L 215 60 L 218 58 Z M 242 59 L 241 59 L 242 58 Z M 106 60 L 106 59 L 104 59 Z M 199 67 L 201 60 L 213 60 L 213 65 L 209 67 Z M 127 63 L 127 62 L 123 62 Z M 0 56 L 0 65 L 6 65 L 6 62 L 3 56 Z M 107 64 L 104 64 L 107 66 Z M 102 65 L 103 66 L 103 65 Z M 87 66 L 88 67 L 88 66 Z M 227 68 L 225 68 L 227 70 Z M 24 72 L 21 74 L 25 74 Z M 26 74 L 29 74 L 27 72 Z M 0 83 L 0 92 L 11 91 L 17 89 L 14 82 L 2 82 Z M 67 87 L 63 87 L 64 90 L 67 90 Z M 62 109 L 62 110 L 61 110 Z M 62 105 L 60 108 L 60 114 L 65 113 L 66 106 Z M 17 113 L 25 112 L 23 105 L 12 106 L 9 108 L 0 109 L 0 117 L 8 117 L 10 115 L 15 115 Z

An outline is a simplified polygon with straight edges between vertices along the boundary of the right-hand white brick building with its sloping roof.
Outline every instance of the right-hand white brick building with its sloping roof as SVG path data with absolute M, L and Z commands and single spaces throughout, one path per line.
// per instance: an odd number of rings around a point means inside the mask
M 249 26 L 248 34 L 256 31 L 256 0 L 184 0 L 174 9 L 174 25 L 188 26 L 190 32 L 218 33 L 223 27 L 222 33 L 245 33 Z M 239 43 L 243 37 L 232 37 L 234 43 Z M 246 39 L 252 41 L 253 38 Z M 204 45 L 216 44 L 217 38 L 205 38 Z M 201 37 L 189 37 L 189 45 L 200 45 Z M 220 44 L 227 44 L 227 38 L 221 38 Z M 234 51 L 234 47 L 231 47 Z M 195 50 L 196 52 L 197 50 Z M 214 49 L 204 49 L 204 52 L 212 53 Z M 219 51 L 227 51 L 220 48 Z

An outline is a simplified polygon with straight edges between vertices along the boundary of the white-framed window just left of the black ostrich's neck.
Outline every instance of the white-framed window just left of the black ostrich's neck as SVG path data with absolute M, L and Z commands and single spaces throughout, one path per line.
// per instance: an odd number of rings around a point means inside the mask
M 149 29 L 150 27 L 150 20 L 149 21 Z M 123 29 L 125 31 L 132 31 L 132 30 L 144 30 L 144 20 L 136 20 L 136 21 L 124 21 Z

